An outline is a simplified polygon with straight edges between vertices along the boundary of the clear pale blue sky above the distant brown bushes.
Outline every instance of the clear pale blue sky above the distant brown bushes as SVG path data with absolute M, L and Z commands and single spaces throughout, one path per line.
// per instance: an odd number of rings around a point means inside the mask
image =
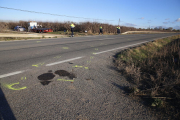
M 135 28 L 180 29 L 180 0 L 0 0 L 0 20 L 89 21 Z

